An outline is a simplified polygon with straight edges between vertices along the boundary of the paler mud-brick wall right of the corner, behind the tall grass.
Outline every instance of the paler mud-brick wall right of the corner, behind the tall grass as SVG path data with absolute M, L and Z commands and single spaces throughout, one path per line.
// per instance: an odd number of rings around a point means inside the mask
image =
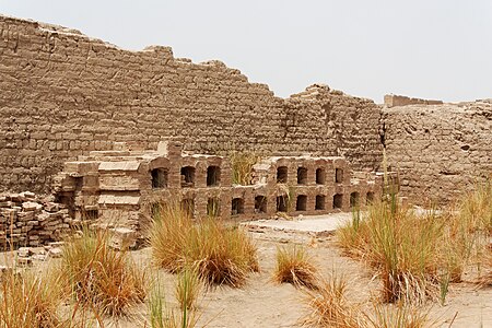
M 384 108 L 383 132 L 412 202 L 449 202 L 492 178 L 492 101 Z

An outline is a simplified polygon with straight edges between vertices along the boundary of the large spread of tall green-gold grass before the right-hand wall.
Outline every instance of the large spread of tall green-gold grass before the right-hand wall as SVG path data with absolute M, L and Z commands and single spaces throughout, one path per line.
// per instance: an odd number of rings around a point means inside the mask
M 457 211 L 423 215 L 400 207 L 396 194 L 389 194 L 368 207 L 363 219 L 354 214 L 338 230 L 339 245 L 379 272 L 385 302 L 421 303 L 436 298 L 438 291 L 444 302 L 448 283 L 461 280 L 466 265 L 488 260 L 491 189 L 490 183 L 478 186 Z

